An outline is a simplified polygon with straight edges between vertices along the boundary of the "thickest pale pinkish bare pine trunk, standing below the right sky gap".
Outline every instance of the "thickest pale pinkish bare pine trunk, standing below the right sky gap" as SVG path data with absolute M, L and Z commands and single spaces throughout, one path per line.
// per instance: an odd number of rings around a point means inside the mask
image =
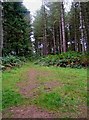
M 66 52 L 65 21 L 64 21 L 64 5 L 63 5 L 63 2 L 61 3 L 61 24 L 62 24 L 63 52 Z

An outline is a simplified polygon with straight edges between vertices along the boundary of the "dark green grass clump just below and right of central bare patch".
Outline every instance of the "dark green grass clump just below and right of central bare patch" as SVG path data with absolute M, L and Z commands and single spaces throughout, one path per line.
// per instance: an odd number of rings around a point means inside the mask
M 61 97 L 58 93 L 44 93 L 39 98 L 34 100 L 35 104 L 48 109 L 56 109 L 62 105 Z

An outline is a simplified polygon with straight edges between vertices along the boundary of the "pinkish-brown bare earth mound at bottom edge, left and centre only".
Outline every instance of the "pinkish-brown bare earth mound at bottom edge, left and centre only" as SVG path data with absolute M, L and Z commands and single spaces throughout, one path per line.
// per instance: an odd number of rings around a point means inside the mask
M 33 105 L 12 107 L 8 112 L 11 118 L 54 118 L 53 113 Z M 8 114 L 3 113 L 3 118 L 8 118 Z

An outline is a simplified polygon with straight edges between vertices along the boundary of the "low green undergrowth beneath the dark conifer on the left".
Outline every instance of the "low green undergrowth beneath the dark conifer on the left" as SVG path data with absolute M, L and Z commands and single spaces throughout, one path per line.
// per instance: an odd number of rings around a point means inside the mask
M 27 61 L 32 61 L 33 58 L 31 56 L 13 56 L 8 55 L 4 57 L 0 57 L 0 69 L 2 70 L 10 70 L 14 67 L 21 67 L 23 64 L 26 64 Z

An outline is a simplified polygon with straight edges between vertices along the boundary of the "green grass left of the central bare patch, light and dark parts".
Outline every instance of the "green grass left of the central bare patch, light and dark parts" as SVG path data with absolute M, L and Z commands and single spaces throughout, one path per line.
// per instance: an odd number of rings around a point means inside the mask
M 31 63 L 26 63 L 21 68 L 14 68 L 10 71 L 4 71 L 2 74 L 2 109 L 13 105 L 19 105 L 24 102 L 24 98 L 18 93 L 16 83 L 26 80 L 25 75 Z

